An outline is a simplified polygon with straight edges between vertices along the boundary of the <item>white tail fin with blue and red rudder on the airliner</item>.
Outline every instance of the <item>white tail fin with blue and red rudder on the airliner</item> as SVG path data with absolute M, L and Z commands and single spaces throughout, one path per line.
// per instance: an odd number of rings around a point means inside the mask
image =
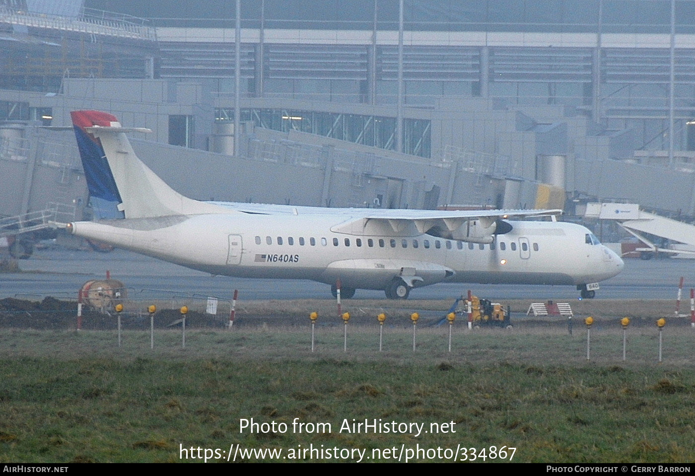
M 125 218 L 229 213 L 218 205 L 183 197 L 152 172 L 133 151 L 117 118 L 97 110 L 70 113 L 92 198 L 117 204 Z

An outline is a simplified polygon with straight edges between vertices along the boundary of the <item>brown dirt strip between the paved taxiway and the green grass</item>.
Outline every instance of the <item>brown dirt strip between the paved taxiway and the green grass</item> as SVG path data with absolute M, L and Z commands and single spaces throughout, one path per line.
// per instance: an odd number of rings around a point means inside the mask
M 532 302 L 541 299 L 512 300 L 502 304 L 512 309 L 512 324 L 523 327 L 566 326 L 562 317 L 527 317 L 526 311 Z M 166 301 L 157 304 L 154 325 L 158 328 L 181 325 L 179 307 L 185 302 Z M 190 304 L 188 304 L 189 307 Z M 376 316 L 386 313 L 385 325 L 389 327 L 408 327 L 409 316 L 420 314 L 418 326 L 430 326 L 439 322 L 452 305 L 445 300 L 389 301 L 386 299 L 345 299 L 341 311 L 350 312 L 350 325 L 376 325 Z M 122 325 L 127 329 L 149 328 L 149 313 L 142 303 L 124 302 Z M 675 302 L 658 299 L 584 299 L 571 302 L 574 312 L 573 326 L 583 326 L 584 318 L 591 315 L 596 327 L 619 326 L 619 320 L 629 317 L 634 326 L 652 326 L 658 318 L 665 317 L 671 325 L 689 326 L 689 310 L 686 315 L 676 317 Z M 140 309 L 142 308 L 142 309 Z M 684 306 L 685 308 L 685 306 Z M 235 325 L 289 325 L 306 326 L 311 322 L 309 313 L 319 314 L 318 326 L 341 326 L 336 302 L 331 299 L 290 299 L 272 301 L 240 302 L 236 311 Z M 84 306 L 82 313 L 83 329 L 115 329 L 117 313 L 111 310 L 100 311 Z M 190 309 L 186 315 L 186 327 L 222 328 L 229 319 L 228 313 L 210 315 L 204 309 Z M 465 316 L 457 318 L 457 324 L 465 321 Z M 42 301 L 28 301 L 8 297 L 0 299 L 0 327 L 19 329 L 74 329 L 77 322 L 77 303 L 54 297 Z

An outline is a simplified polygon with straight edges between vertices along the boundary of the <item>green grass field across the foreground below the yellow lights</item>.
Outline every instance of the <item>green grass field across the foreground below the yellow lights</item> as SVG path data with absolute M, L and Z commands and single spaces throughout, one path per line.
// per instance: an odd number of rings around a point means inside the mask
M 562 326 L 457 324 L 452 352 L 445 327 L 418 329 L 416 352 L 408 327 L 386 327 L 378 352 L 378 331 L 348 327 L 343 352 L 342 325 L 317 327 L 312 353 L 308 324 L 191 331 L 186 349 L 180 331 L 159 330 L 154 350 L 147 331 L 126 331 L 118 348 L 114 331 L 2 329 L 0 461 L 181 461 L 191 447 L 219 449 L 210 461 L 226 461 L 230 446 L 282 450 L 236 461 L 309 461 L 297 450 L 311 445 L 364 451 L 362 461 L 390 461 L 382 451 L 394 447 L 412 450 L 411 461 L 485 448 L 491 461 L 493 446 L 507 447 L 504 461 L 516 448 L 514 462 L 695 461 L 687 326 L 664 330 L 663 363 L 655 327 L 628 329 L 625 362 L 622 331 L 607 325 L 591 331 L 590 361 L 579 322 L 573 336 Z M 252 418 L 276 431 L 240 432 Z M 331 432 L 297 432 L 295 418 Z M 341 432 L 353 418 L 428 432 Z M 429 432 L 431 423 L 448 425 Z M 415 458 L 418 448 L 441 450 Z M 336 461 L 323 456 L 313 461 Z

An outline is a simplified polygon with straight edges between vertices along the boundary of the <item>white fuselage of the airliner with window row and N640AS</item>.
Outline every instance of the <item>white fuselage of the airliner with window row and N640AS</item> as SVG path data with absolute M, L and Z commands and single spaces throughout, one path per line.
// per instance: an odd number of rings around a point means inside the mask
M 171 215 L 76 222 L 72 232 L 117 247 L 234 277 L 310 279 L 384 289 L 443 281 L 582 285 L 618 274 L 623 262 L 591 243 L 589 230 L 562 222 L 509 222 L 493 243 L 418 233 L 345 233 L 353 215 Z M 341 230 L 341 231 L 336 231 Z

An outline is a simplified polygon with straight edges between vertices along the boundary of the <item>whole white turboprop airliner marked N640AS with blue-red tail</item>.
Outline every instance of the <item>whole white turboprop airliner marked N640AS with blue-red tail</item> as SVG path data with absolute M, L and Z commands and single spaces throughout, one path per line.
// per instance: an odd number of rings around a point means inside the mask
M 72 121 L 90 195 L 118 220 L 70 232 L 171 263 L 236 277 L 311 279 L 341 295 L 382 289 L 405 299 L 440 282 L 563 284 L 594 297 L 623 261 L 558 210 L 423 211 L 197 202 L 167 186 L 133 152 L 113 115 Z M 550 215 L 553 221 L 507 221 Z

